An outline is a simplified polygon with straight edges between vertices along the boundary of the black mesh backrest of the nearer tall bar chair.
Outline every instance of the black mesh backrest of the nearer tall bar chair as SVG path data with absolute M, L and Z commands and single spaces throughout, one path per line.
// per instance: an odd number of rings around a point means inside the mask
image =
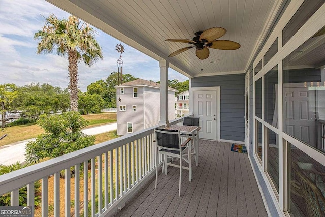
M 180 133 L 178 130 L 154 129 L 157 146 L 168 150 L 181 148 Z

